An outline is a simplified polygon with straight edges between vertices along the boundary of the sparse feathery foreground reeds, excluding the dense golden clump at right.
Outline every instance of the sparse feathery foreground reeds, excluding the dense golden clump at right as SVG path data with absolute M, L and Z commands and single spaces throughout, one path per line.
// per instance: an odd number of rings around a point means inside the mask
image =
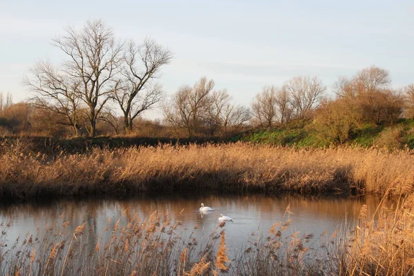
M 291 219 L 275 224 L 267 235 L 253 234 L 234 259 L 221 222 L 204 242 L 186 235 L 168 213 L 126 224 L 108 221 L 104 233 L 83 223 L 72 232 L 68 222 L 46 226 L 6 246 L 8 228 L 0 235 L 1 275 L 332 275 L 319 237 L 288 233 Z M 332 247 L 332 246 L 331 246 Z M 319 259 L 318 259 L 319 258 Z M 329 257 L 329 259 L 331 259 Z M 315 274 L 316 273 L 316 274 Z

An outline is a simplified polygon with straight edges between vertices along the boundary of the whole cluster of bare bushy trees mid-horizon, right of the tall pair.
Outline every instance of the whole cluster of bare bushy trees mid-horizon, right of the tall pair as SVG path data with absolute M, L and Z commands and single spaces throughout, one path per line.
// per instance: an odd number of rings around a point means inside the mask
M 175 135 L 226 136 L 242 130 L 250 119 L 248 108 L 232 103 L 227 90 L 213 90 L 215 83 L 202 77 L 193 87 L 183 86 L 163 107 L 166 124 Z

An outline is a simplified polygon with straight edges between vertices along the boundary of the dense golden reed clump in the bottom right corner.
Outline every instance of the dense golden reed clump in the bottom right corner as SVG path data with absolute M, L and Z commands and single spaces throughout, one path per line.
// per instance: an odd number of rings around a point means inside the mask
M 377 207 L 375 218 L 363 206 L 344 246 L 344 275 L 414 274 L 414 195 Z

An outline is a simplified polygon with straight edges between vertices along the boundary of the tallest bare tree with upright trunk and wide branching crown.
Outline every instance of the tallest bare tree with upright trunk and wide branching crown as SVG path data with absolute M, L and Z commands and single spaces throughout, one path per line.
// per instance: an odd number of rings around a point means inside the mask
M 62 66 L 66 75 L 62 80 L 64 84 L 68 79 L 70 83 L 77 83 L 75 91 L 88 106 L 86 129 L 95 137 L 99 113 L 119 86 L 115 77 L 121 65 L 123 45 L 101 20 L 88 21 L 82 30 L 68 27 L 66 35 L 53 41 L 68 57 Z

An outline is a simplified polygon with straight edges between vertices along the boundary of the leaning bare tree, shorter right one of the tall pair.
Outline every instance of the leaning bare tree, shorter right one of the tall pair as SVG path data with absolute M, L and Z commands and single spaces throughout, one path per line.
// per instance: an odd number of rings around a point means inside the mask
M 132 130 L 134 119 L 161 100 L 161 86 L 152 80 L 159 77 L 159 70 L 172 59 L 172 52 L 152 39 L 145 39 L 136 46 L 130 41 L 124 53 L 122 86 L 115 92 L 115 101 L 124 114 L 125 132 Z

